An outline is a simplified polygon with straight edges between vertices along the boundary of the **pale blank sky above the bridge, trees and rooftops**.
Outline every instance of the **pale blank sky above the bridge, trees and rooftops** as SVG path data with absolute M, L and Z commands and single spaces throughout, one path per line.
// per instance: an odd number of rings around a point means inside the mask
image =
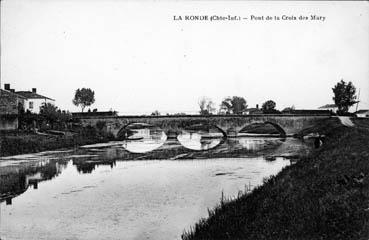
M 235 15 L 240 21 L 174 16 Z M 251 20 L 254 16 L 324 16 Z M 218 107 L 241 96 L 249 107 L 317 109 L 333 103 L 341 79 L 369 109 L 369 2 L 2 0 L 1 87 L 31 90 L 78 111 L 196 113 L 206 96 Z

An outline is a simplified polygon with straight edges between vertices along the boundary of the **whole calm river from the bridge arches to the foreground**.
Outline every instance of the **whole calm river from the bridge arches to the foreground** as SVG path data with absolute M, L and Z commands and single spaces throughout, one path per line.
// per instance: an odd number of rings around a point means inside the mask
M 201 135 L 201 134 L 200 134 Z M 0 160 L 1 239 L 180 239 L 312 144 L 163 134 Z

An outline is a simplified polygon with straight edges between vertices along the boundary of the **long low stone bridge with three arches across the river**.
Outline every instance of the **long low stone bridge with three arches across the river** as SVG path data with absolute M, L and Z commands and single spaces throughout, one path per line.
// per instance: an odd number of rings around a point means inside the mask
M 76 117 L 83 126 L 103 129 L 118 137 L 127 126 L 143 123 L 161 128 L 168 137 L 176 137 L 182 130 L 194 125 L 212 126 L 225 137 L 237 137 L 246 126 L 265 123 L 274 126 L 281 136 L 293 136 L 301 130 L 314 126 L 330 115 L 183 115 L 183 116 L 80 116 Z

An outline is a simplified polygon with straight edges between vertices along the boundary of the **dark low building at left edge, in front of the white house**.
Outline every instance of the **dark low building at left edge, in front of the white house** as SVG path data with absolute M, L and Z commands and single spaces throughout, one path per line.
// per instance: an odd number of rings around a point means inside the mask
M 14 93 L 14 89 L 0 89 L 0 130 L 18 129 L 18 109 L 26 99 Z

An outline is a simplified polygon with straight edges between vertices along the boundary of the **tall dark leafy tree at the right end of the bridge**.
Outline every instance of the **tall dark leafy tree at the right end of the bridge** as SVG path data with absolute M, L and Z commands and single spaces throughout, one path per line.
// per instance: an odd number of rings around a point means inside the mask
M 346 83 L 341 79 L 332 90 L 334 93 L 333 101 L 338 107 L 338 114 L 347 113 L 349 107 L 357 103 L 355 95 L 356 88 L 352 82 Z

